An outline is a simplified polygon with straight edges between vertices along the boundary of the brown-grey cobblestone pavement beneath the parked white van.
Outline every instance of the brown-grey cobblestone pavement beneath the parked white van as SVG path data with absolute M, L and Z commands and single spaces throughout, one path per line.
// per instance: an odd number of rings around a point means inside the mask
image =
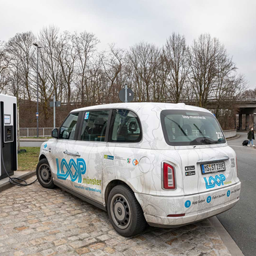
M 30 181 L 33 178 L 29 179 Z M 0 193 L 0 255 L 230 255 L 208 220 L 119 236 L 106 212 L 36 182 Z

